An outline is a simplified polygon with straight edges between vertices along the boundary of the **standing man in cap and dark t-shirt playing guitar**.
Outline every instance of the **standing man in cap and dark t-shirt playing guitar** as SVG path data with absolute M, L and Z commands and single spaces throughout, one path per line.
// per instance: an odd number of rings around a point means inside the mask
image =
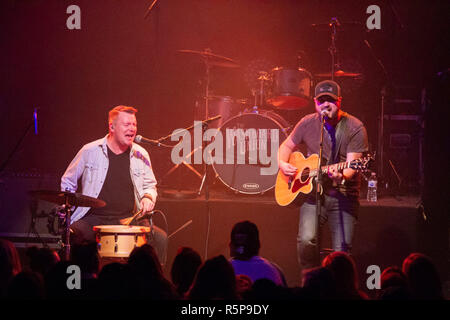
M 368 151 L 368 139 L 363 123 L 341 110 L 341 101 L 341 89 L 336 82 L 326 80 L 318 83 L 314 97 L 316 113 L 303 117 L 281 144 L 278 163 L 282 174 L 294 177 L 298 168 L 291 164 L 292 161 L 289 163 L 289 160 L 298 146 L 304 144 L 308 156 L 318 154 L 322 116 L 325 117 L 322 164 L 329 167 L 322 179 L 319 220 L 320 225 L 329 222 L 332 249 L 349 252 L 359 208 L 360 175 L 351 168 L 339 170 L 342 167 L 337 163 L 361 158 Z M 302 269 L 320 264 L 316 254 L 315 194 L 310 192 L 300 207 L 297 257 Z

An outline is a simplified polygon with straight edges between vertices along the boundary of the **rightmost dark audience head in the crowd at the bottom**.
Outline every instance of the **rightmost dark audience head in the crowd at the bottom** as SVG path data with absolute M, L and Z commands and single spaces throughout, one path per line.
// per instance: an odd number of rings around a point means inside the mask
M 439 273 L 431 259 L 422 253 L 411 253 L 403 260 L 403 273 L 415 299 L 443 299 Z

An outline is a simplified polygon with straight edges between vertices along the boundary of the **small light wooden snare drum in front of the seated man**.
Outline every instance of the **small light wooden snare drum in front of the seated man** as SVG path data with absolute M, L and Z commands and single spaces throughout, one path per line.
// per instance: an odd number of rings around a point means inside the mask
M 147 243 L 149 227 L 104 225 L 94 226 L 100 257 L 128 258 L 134 248 Z

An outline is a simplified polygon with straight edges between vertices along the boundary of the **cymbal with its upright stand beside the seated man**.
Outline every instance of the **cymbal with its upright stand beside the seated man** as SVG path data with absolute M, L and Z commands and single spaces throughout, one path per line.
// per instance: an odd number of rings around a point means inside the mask
M 85 196 L 81 193 L 69 191 L 53 191 L 53 190 L 35 190 L 30 191 L 30 195 L 36 199 L 48 201 L 59 206 L 63 206 L 62 213 L 64 215 L 64 232 L 63 232 L 63 247 L 64 258 L 66 261 L 70 260 L 70 218 L 74 207 L 91 207 L 101 208 L 106 205 L 106 202 L 100 199 Z

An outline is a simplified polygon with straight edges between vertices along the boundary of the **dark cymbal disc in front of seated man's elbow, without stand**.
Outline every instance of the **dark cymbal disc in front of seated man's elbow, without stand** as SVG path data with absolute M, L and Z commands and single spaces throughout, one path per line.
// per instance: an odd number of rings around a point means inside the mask
M 57 205 L 63 205 L 67 202 L 75 207 L 101 208 L 106 202 L 97 198 L 85 196 L 81 193 L 64 192 L 55 190 L 34 190 L 29 192 L 31 196 L 39 200 L 48 201 Z

